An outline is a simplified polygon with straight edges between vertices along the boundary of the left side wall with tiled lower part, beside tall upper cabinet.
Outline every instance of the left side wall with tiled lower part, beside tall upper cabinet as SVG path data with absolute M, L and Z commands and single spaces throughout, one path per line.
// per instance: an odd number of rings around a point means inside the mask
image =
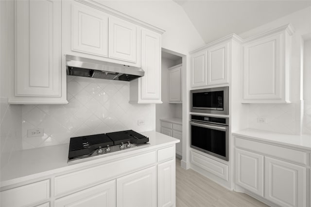
M 12 39 L 8 37 L 12 2 L 0 1 L 0 163 L 3 167 L 11 153 L 21 149 L 21 106 L 8 105 L 8 72 L 12 64 Z

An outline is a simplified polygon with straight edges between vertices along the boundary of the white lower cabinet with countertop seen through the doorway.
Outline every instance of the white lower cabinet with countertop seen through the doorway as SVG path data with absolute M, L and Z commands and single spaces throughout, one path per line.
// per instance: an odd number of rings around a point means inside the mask
M 182 119 L 179 118 L 162 118 L 160 119 L 161 133 L 178 139 L 180 142 L 176 143 L 176 155 L 182 157 L 182 138 L 183 127 Z

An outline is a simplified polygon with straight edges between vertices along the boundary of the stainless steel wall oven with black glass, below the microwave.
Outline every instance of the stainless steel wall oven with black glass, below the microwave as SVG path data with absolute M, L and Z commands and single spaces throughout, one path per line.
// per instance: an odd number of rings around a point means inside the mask
M 228 123 L 227 117 L 191 115 L 190 146 L 228 161 Z

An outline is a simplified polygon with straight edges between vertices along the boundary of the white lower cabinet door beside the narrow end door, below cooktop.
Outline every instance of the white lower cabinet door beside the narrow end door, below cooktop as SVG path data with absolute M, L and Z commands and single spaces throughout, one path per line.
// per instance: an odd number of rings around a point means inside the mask
M 156 207 L 156 167 L 117 178 L 117 207 Z

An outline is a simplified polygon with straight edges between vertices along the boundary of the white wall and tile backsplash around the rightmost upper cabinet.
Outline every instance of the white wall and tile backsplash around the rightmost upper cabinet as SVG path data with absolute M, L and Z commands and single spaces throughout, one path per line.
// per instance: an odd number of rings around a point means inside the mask
M 292 38 L 291 104 L 249 104 L 248 127 L 280 133 L 300 134 L 300 50 L 301 35 L 311 32 L 311 7 L 276 19 L 268 24 L 239 34 L 247 38 L 291 23 L 295 33 Z M 267 124 L 257 123 L 258 117 L 266 117 Z

